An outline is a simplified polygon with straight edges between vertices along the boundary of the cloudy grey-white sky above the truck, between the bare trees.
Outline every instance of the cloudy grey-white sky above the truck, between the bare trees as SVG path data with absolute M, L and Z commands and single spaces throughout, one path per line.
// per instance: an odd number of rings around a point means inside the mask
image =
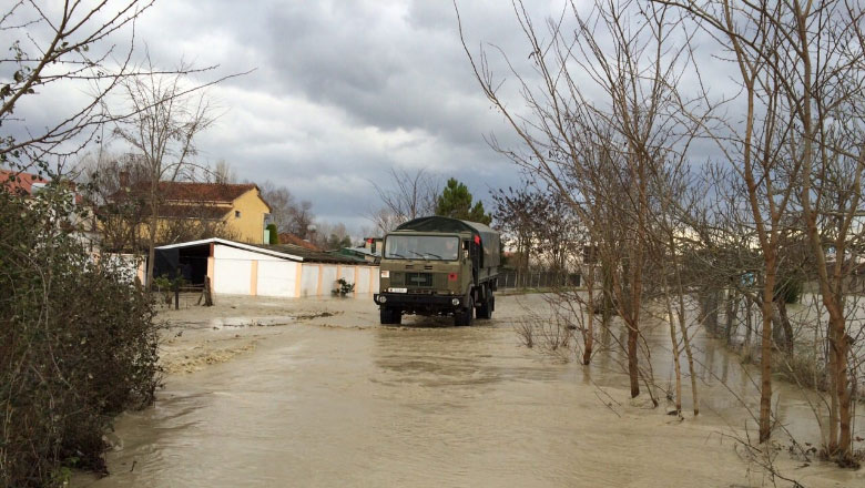
M 472 50 L 529 52 L 510 2 L 459 9 Z M 222 115 L 199 138 L 199 159 L 284 185 L 353 233 L 372 227 L 370 181 L 386 183 L 390 169 L 457 177 L 488 209 L 490 190 L 519 184 L 485 141 L 518 144 L 474 78 L 450 0 L 162 0 L 135 37 L 160 65 L 218 64 L 202 81 L 254 70 L 210 90 Z

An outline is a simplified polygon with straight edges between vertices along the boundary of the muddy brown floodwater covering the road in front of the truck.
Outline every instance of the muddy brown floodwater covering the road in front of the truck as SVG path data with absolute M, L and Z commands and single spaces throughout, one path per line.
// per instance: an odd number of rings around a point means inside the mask
M 250 354 L 167 378 L 156 405 L 120 416 L 111 476 L 89 487 L 761 486 L 737 454 L 753 385 L 702 335 L 703 414 L 684 421 L 628 399 L 615 354 L 587 369 L 522 347 L 515 324 L 540 297 L 500 297 L 472 327 L 409 319 L 380 327 L 368 301 L 329 323 L 292 324 Z M 334 304 L 327 305 L 333 308 Z M 663 333 L 655 377 L 670 378 Z M 223 331 L 214 331 L 214 334 Z M 669 334 L 669 333 L 668 333 Z M 666 336 L 669 340 L 669 336 Z M 614 340 L 614 337 L 602 338 Z M 724 378 L 727 387 L 721 386 Z M 778 416 L 816 440 L 807 398 L 778 387 Z M 690 401 L 686 400 L 686 404 Z M 865 487 L 862 472 L 782 453 L 804 486 Z M 784 486 L 783 484 L 780 486 Z

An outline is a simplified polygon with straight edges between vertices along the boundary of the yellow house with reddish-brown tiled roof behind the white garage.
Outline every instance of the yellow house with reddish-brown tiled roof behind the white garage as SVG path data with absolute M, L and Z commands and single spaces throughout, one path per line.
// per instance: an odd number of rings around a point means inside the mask
M 138 201 L 146 205 L 150 192 L 150 183 L 140 182 L 124 186 L 112 195 L 112 200 L 114 203 Z M 160 202 L 159 235 L 170 234 L 172 227 L 197 225 L 240 242 L 266 242 L 271 206 L 255 184 L 160 182 L 155 194 Z M 146 235 L 147 220 L 143 218 L 139 225 L 139 233 Z

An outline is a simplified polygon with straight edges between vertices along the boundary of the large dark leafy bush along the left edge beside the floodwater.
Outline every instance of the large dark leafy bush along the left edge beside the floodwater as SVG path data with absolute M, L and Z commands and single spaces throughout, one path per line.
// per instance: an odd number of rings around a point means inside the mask
M 62 190 L 0 187 L 0 486 L 62 485 L 104 471 L 114 415 L 153 401 L 152 301 L 70 233 Z

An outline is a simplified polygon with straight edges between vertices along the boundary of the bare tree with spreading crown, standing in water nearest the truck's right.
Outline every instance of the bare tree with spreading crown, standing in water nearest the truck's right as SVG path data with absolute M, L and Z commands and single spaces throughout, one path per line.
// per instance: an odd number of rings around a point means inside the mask
M 548 40 L 541 41 L 521 2 L 515 2 L 515 14 L 529 44 L 538 83 L 502 55 L 530 115 L 516 113 L 502 100 L 501 83 L 491 74 L 486 52 L 476 57 L 466 47 L 487 98 L 527 150 L 522 153 L 492 143 L 553 185 L 582 214 L 583 222 L 591 222 L 586 218 L 583 201 L 597 199 L 609 209 L 606 214 L 611 220 L 602 242 L 610 263 L 608 285 L 628 329 L 627 368 L 631 395 L 638 396 L 641 377 L 648 383 L 650 375 L 642 375 L 638 364 L 652 224 L 650 181 L 664 172 L 671 152 L 686 148 L 694 133 L 688 130 L 693 122 L 675 116 L 674 111 L 685 103 L 676 87 L 683 70 L 690 68 L 690 47 L 674 43 L 670 32 L 683 23 L 666 8 L 634 1 L 599 1 L 588 14 L 569 4 L 550 20 L 543 35 Z M 566 18 L 572 26 L 563 27 Z M 601 99 L 592 100 L 590 90 Z M 681 130 L 683 125 L 686 130 Z M 586 157 L 586 148 L 596 148 L 597 156 Z

